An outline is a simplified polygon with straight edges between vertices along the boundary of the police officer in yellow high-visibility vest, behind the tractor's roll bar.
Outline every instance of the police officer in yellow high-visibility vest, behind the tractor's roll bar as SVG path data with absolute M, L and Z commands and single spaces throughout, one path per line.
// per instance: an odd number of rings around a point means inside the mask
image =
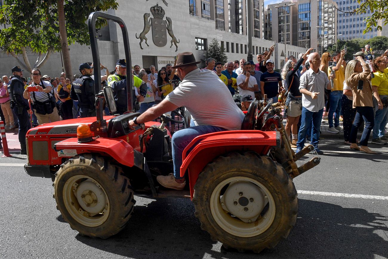
M 128 111 L 128 100 L 126 90 L 126 60 L 118 59 L 116 63 L 116 72 L 114 75 L 108 76 L 108 84 L 112 87 L 114 101 L 117 106 L 117 113 L 123 114 Z M 139 77 L 132 75 L 133 85 L 133 107 L 135 107 L 136 101 L 142 102 L 147 94 L 147 82 L 143 82 Z M 137 94 L 139 93 L 140 94 Z M 139 96 L 138 99 L 135 97 Z M 139 110 L 136 109 L 135 110 Z

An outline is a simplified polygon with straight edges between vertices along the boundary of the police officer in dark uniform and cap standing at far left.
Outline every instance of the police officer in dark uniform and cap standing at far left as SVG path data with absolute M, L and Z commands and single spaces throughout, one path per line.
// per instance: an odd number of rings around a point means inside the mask
M 16 114 L 17 122 L 19 123 L 19 142 L 20 142 L 20 153 L 22 155 L 27 155 L 26 147 L 26 134 L 27 131 L 31 128 L 29 123 L 28 110 L 29 105 L 28 101 L 24 99 L 24 82 L 21 78 L 23 76 L 23 70 L 19 66 L 14 66 L 12 68 L 12 76 L 10 77 L 10 92 L 9 96 L 11 97 L 11 108 Z

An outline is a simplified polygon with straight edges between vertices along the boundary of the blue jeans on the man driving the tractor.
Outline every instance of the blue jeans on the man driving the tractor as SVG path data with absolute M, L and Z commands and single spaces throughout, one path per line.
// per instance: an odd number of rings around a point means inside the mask
M 208 134 L 212 132 L 225 131 L 221 127 L 212 125 L 199 125 L 187 129 L 181 129 L 172 136 L 172 159 L 174 163 L 175 179 L 182 179 L 180 177 L 180 166 L 182 165 L 183 150 L 190 144 L 190 142 L 197 136 Z

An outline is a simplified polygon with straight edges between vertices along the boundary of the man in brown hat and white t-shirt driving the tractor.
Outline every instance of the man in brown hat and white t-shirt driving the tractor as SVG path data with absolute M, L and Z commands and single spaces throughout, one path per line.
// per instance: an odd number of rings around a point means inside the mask
M 195 137 L 211 132 L 240 130 L 244 119 L 244 113 L 234 103 L 225 83 L 212 71 L 199 70 L 199 63 L 201 61 L 196 61 L 191 52 L 180 53 L 173 68 L 177 69 L 182 83 L 160 104 L 129 122 L 130 128 L 134 129 L 181 106 L 191 113 L 192 127 L 177 131 L 171 140 L 173 174 L 157 177 L 159 184 L 170 189 L 182 190 L 185 187 L 185 178 L 180 176 L 182 152 Z

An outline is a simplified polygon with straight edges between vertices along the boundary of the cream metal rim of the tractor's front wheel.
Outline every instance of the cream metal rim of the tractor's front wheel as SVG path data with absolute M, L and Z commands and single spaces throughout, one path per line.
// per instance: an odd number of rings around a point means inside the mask
M 79 190 L 80 186 L 84 187 Z M 81 198 L 81 194 L 89 194 L 89 196 Z M 62 195 L 70 216 L 84 226 L 100 226 L 109 216 L 110 205 L 106 191 L 90 176 L 70 177 L 63 186 Z M 94 200 L 93 204 L 92 200 Z

